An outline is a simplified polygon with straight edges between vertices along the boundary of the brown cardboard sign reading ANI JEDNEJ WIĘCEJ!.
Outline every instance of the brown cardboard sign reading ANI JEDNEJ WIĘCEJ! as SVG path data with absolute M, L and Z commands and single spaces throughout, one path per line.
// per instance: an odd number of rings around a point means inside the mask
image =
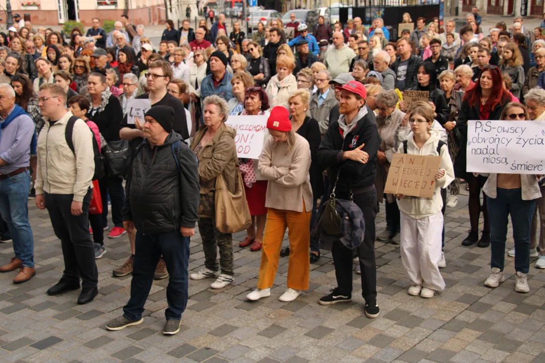
M 440 164 L 440 156 L 394 154 L 384 193 L 431 198 Z

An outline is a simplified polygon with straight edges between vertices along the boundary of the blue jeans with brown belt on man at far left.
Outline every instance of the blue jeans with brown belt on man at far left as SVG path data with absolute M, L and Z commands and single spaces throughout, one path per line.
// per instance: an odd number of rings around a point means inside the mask
M 23 266 L 34 267 L 34 237 L 28 222 L 28 192 L 31 178 L 28 170 L 0 180 L 0 214 L 13 239 L 15 257 Z

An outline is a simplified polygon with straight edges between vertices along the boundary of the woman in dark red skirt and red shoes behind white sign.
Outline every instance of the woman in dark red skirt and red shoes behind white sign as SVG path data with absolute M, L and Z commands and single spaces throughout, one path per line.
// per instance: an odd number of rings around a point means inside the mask
M 242 115 L 269 114 L 269 97 L 263 88 L 250 87 L 245 91 L 244 110 Z M 263 232 L 267 222 L 267 180 L 258 171 L 258 159 L 240 159 L 239 167 L 244 176 L 244 190 L 246 202 L 250 208 L 252 224 L 246 229 L 246 238 L 239 243 L 239 247 L 250 246 L 251 251 L 258 251 L 263 245 Z

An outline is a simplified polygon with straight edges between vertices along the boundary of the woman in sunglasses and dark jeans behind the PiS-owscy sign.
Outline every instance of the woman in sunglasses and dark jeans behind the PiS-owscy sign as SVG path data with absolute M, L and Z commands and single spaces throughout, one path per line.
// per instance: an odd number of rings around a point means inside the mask
M 507 104 L 500 120 L 520 122 L 530 120 L 523 104 Z M 488 216 L 492 227 L 490 243 L 490 267 L 492 274 L 485 286 L 498 287 L 506 280 L 504 276 L 505 241 L 507 239 L 508 216 L 513 224 L 514 269 L 516 292 L 529 292 L 526 274 L 530 269 L 530 231 L 532 217 L 536 210 L 536 200 L 541 197 L 540 179 L 534 174 L 485 174 L 488 180 L 482 188 L 486 193 Z

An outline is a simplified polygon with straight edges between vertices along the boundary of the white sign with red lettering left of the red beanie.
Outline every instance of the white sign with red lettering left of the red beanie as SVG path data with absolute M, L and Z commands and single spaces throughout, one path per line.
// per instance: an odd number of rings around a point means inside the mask
M 229 116 L 225 124 L 237 131 L 235 145 L 237 145 L 238 157 L 259 159 L 263 149 L 263 141 L 268 134 L 267 118 L 267 115 Z

